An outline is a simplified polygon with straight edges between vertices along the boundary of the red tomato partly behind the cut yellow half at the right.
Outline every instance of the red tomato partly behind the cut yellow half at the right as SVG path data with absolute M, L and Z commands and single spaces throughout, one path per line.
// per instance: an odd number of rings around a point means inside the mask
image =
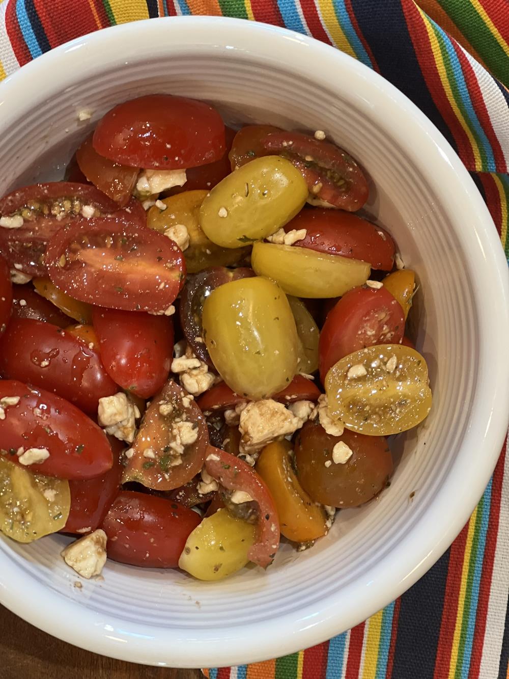
M 385 288 L 349 290 L 328 312 L 320 333 L 320 378 L 343 356 L 374 344 L 398 344 L 404 312 Z

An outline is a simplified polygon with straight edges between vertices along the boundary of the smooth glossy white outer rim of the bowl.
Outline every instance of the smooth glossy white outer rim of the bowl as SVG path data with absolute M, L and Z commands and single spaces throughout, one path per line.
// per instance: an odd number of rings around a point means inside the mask
M 147 47 L 140 44 L 141 34 L 145 38 L 149 36 L 149 40 L 144 40 Z M 8 76 L 0 84 L 3 120 L 16 115 L 20 97 L 26 101 L 31 85 L 43 81 L 48 73 L 55 81 L 71 73 L 75 79 L 75 74 L 83 69 L 90 71 L 91 64 L 100 68 L 109 56 L 113 59 L 114 54 L 129 54 L 126 48 L 132 48 L 133 44 L 136 44 L 134 61 L 140 55 L 149 54 L 155 46 L 171 52 L 175 48 L 225 50 L 228 45 L 230 54 L 250 52 L 292 71 L 297 65 L 301 73 L 315 80 L 318 77 L 323 84 L 326 77 L 323 74 L 341 67 L 356 78 L 356 92 L 352 97 L 364 101 L 365 105 L 375 103 L 379 115 L 385 112 L 392 116 L 394 126 L 404 120 L 399 133 L 405 151 L 412 147 L 415 154 L 419 152 L 421 163 L 432 164 L 440 170 L 430 179 L 430 185 L 447 212 L 457 215 L 456 222 L 463 219 L 471 225 L 471 229 L 461 234 L 461 243 L 470 259 L 475 259 L 480 274 L 474 290 L 476 299 L 483 299 L 483 304 L 478 305 L 482 339 L 479 358 L 483 365 L 496 365 L 497 370 L 489 375 L 480 373 L 478 378 L 478 394 L 461 444 L 461 449 L 468 447 L 472 452 L 470 466 L 459 466 L 458 460 L 453 462 L 432 507 L 419 517 L 411 536 L 405 536 L 390 557 L 366 572 L 366 582 L 347 587 L 347 591 L 341 593 L 341 602 L 337 595 L 331 597 L 324 592 L 319 610 L 316 606 L 303 608 L 297 615 L 288 614 L 242 627 L 235 626 L 233 619 L 231 627 L 196 631 L 191 640 L 185 629 L 174 629 L 172 638 L 168 638 L 167 631 L 161 627 L 143 625 L 140 629 L 115 616 L 105 620 L 79 602 L 62 598 L 58 591 L 27 581 L 22 569 L 0 578 L 1 604 L 49 634 L 94 653 L 168 667 L 220 667 L 280 657 L 329 639 L 392 602 L 438 560 L 468 521 L 493 472 L 508 426 L 509 358 L 504 345 L 504 337 L 509 335 L 507 263 L 483 198 L 455 151 L 432 122 L 378 73 L 330 45 L 288 29 L 242 19 L 204 16 L 157 18 L 112 26 L 60 45 Z M 86 67 L 81 54 L 83 48 L 89 48 Z M 314 53 L 313 59 L 309 58 L 310 51 Z M 318 60 L 321 73 L 317 75 Z M 126 63 L 129 61 L 127 58 Z M 328 89 L 331 90 L 330 81 Z M 483 456 L 476 456 L 474 451 L 481 441 Z M 450 507 L 447 498 L 451 493 L 457 507 L 444 526 L 443 516 Z M 0 543 L 0 572 L 4 573 L 11 564 L 6 550 Z M 24 593 L 22 598 L 20 591 Z M 37 606 L 33 606 L 34 601 Z M 48 619 L 48 610 L 58 610 L 58 615 Z

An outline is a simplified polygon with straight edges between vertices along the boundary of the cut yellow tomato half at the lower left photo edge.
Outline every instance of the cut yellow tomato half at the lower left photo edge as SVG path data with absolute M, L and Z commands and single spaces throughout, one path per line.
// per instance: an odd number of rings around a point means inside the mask
M 5 453 L 5 451 L 3 451 Z M 0 530 L 18 543 L 31 543 L 64 528 L 69 481 L 33 474 L 0 456 Z

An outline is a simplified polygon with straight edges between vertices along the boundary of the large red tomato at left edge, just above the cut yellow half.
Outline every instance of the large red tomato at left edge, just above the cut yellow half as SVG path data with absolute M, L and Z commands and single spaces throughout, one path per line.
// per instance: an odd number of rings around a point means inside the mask
M 20 397 L 16 405 L 3 405 L 1 453 L 11 462 L 58 479 L 91 479 L 111 469 L 105 433 L 75 405 L 17 380 L 0 380 L 0 401 L 8 397 Z M 31 448 L 45 449 L 50 456 L 23 464 L 20 456 Z

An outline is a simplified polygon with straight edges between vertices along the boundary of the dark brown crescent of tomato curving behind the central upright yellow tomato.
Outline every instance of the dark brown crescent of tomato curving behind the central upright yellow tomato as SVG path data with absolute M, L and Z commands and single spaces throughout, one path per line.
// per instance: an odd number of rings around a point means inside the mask
M 214 367 L 212 359 L 208 355 L 205 346 L 202 327 L 202 315 L 204 301 L 208 295 L 219 288 L 220 285 L 238 280 L 239 278 L 251 278 L 255 272 L 248 268 L 227 269 L 224 266 L 216 266 L 212 269 L 189 276 L 181 294 L 181 325 L 188 344 L 193 352 L 210 367 Z

